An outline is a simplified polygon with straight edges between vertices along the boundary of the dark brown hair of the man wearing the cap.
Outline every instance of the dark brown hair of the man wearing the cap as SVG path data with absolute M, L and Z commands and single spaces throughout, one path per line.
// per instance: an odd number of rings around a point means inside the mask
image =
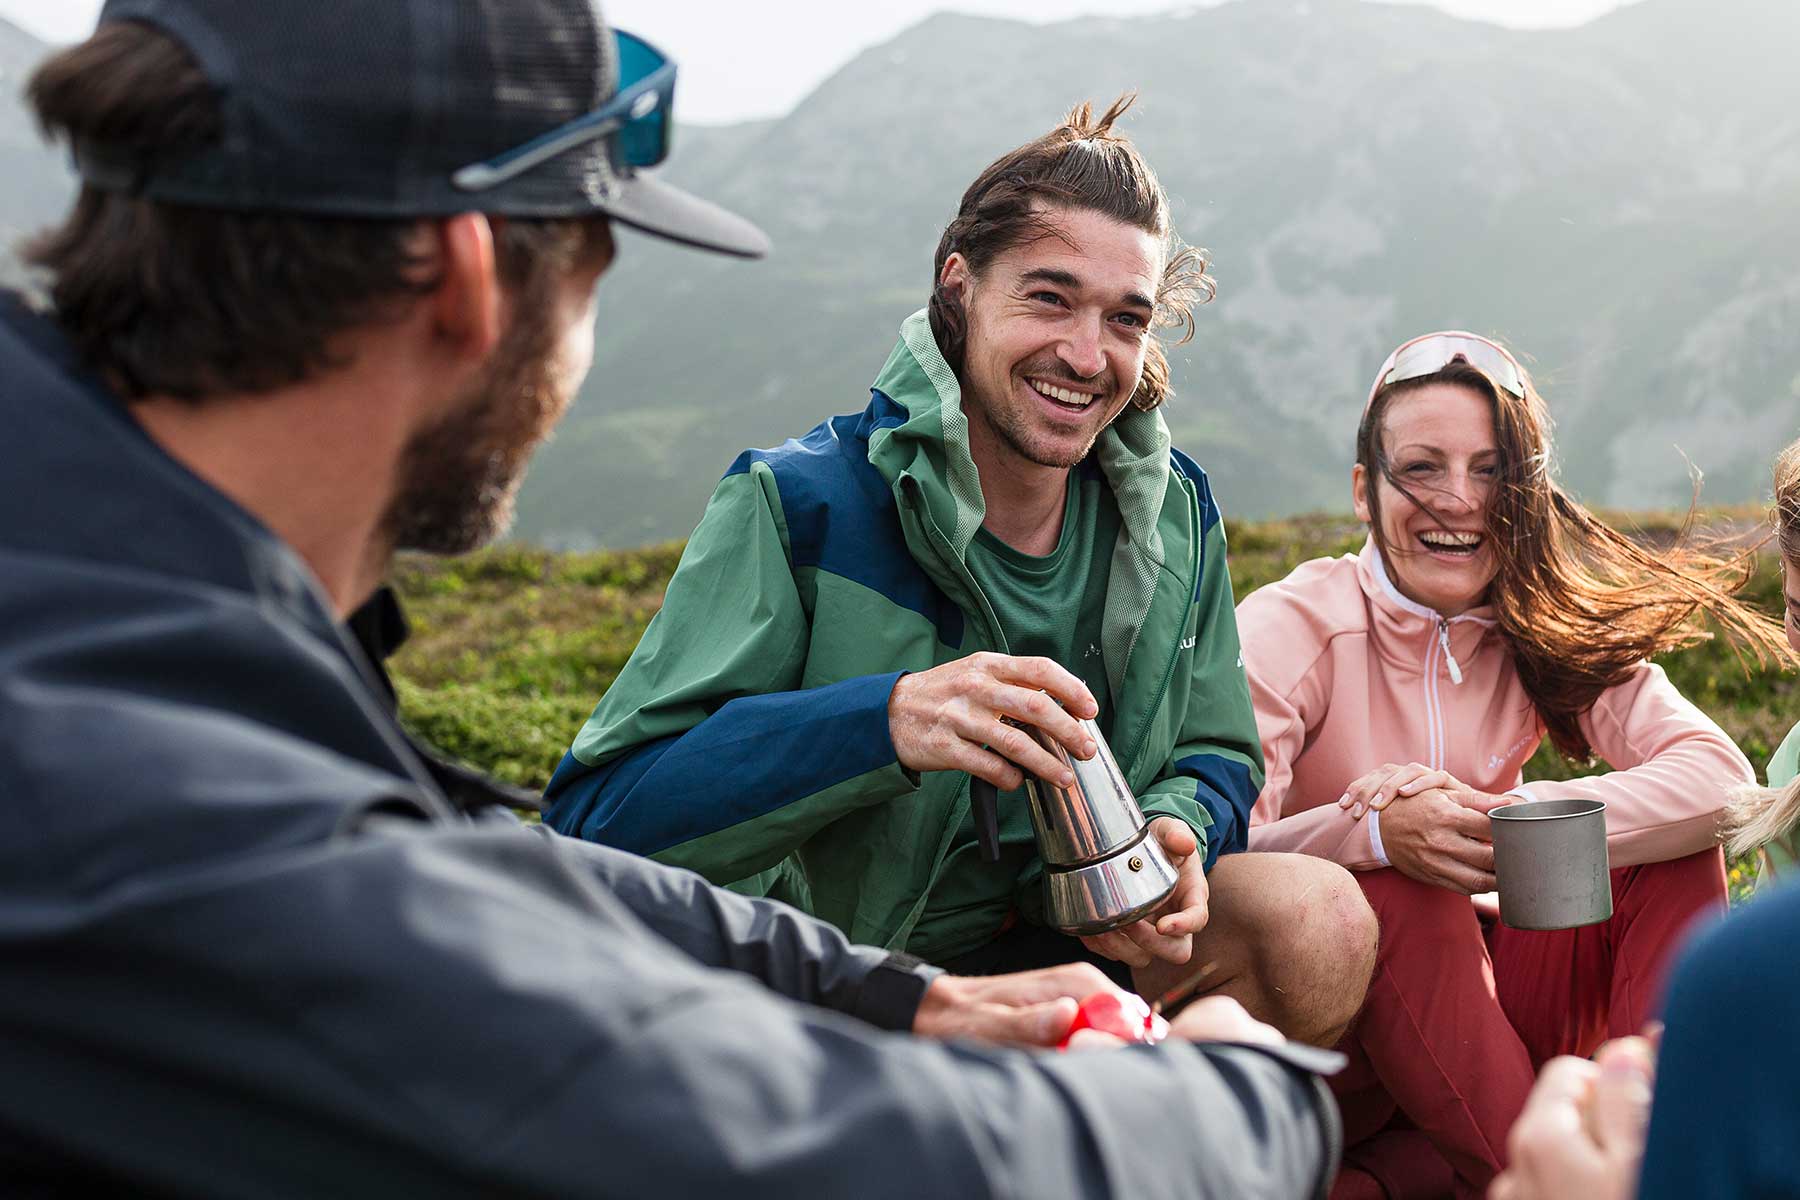
M 225 135 L 187 49 L 139 22 L 108 22 L 50 56 L 25 97 L 47 139 L 106 148 L 146 173 Z M 497 270 L 520 318 L 547 311 L 590 225 L 497 223 Z M 437 284 L 427 234 L 416 219 L 205 209 L 85 184 L 23 259 L 47 275 L 76 351 L 124 398 L 202 401 L 340 367 L 344 333 L 396 318 Z

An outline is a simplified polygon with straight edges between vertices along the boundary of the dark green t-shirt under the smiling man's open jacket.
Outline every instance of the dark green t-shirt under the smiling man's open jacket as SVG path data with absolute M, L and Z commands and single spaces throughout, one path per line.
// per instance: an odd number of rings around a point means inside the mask
M 968 545 L 968 572 L 994 606 L 1013 655 L 1053 658 L 1087 684 L 1100 703 L 1100 730 L 1112 732 L 1112 696 L 1100 651 L 1112 545 L 1120 511 L 1098 471 L 1071 471 L 1057 549 L 1021 554 L 986 529 Z M 999 799 L 1001 860 L 981 862 L 974 813 L 950 842 L 907 950 L 941 963 L 994 939 L 1013 907 L 1019 874 L 1037 858 L 1024 788 Z

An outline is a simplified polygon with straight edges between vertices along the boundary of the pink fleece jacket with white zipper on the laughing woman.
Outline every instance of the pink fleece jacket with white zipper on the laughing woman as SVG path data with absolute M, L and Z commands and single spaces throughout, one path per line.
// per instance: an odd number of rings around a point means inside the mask
M 1301 563 L 1247 596 L 1237 617 L 1269 775 L 1251 813 L 1253 851 L 1386 865 L 1379 819 L 1337 808 L 1382 763 L 1424 763 L 1481 792 L 1606 801 L 1615 869 L 1714 846 L 1726 793 L 1753 781 L 1724 730 L 1643 662 L 1580 718 L 1615 770 L 1519 786 L 1544 723 L 1492 610 L 1445 621 L 1406 599 L 1373 540 L 1355 556 Z

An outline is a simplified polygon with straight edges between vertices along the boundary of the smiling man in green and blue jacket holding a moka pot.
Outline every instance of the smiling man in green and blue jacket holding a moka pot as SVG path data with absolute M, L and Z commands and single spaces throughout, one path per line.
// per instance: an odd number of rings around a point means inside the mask
M 1129 104 L 1082 104 L 976 178 L 868 408 L 731 464 L 549 820 L 952 970 L 1091 961 L 1145 995 L 1202 973 L 1328 1045 L 1373 916 L 1334 864 L 1240 853 L 1262 750 L 1154 335 L 1211 281 L 1116 126 Z M 1181 864 L 1161 910 L 1080 943 L 1044 925 L 1022 793 L 999 862 L 970 815 L 972 779 L 1062 783 L 1017 723 L 1093 756 L 1076 718 Z

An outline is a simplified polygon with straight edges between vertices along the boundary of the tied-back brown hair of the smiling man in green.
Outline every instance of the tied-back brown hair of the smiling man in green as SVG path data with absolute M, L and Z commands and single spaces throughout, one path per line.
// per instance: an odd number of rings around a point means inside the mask
M 1136 101 L 1136 92 L 1112 101 L 1094 119 L 1091 103 L 1076 104 L 1055 130 L 995 158 L 963 193 L 956 218 L 938 239 L 932 259 L 932 291 L 927 306 L 931 333 L 950 369 L 961 374 L 968 340 L 968 317 L 958 295 L 940 279 L 952 254 L 981 275 L 1006 250 L 1039 237 L 1060 237 L 1044 209 L 1085 209 L 1154 236 L 1163 246 L 1163 279 L 1156 288 L 1152 329 L 1181 327 L 1177 344 L 1193 336 L 1193 306 L 1213 299 L 1206 252 L 1186 246 L 1168 221 L 1168 194 L 1150 164 L 1114 124 Z M 1132 405 L 1148 412 L 1170 396 L 1168 356 L 1150 338 L 1143 378 Z

